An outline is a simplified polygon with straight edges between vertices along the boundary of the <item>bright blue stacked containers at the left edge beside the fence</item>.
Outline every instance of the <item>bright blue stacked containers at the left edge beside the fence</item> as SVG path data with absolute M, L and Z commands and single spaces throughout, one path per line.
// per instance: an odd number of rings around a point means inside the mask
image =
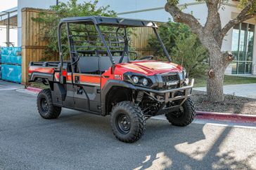
M 1 79 L 21 83 L 21 48 L 1 48 Z

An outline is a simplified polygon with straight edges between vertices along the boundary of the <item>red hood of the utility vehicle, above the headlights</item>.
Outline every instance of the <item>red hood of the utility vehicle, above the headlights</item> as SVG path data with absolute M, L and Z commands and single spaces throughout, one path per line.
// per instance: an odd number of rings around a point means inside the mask
M 117 67 L 124 71 L 132 71 L 134 73 L 142 73 L 151 76 L 155 73 L 181 72 L 182 66 L 172 62 L 157 62 L 157 61 L 140 61 L 117 64 Z

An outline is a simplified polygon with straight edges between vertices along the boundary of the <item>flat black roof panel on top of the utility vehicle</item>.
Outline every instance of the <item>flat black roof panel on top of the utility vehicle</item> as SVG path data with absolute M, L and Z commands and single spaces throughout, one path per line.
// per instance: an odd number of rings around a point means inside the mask
M 122 17 L 101 17 L 101 16 L 88 16 L 88 17 L 66 17 L 60 22 L 93 22 L 94 24 L 113 25 L 117 27 L 158 27 L 155 22 L 148 20 L 136 20 Z

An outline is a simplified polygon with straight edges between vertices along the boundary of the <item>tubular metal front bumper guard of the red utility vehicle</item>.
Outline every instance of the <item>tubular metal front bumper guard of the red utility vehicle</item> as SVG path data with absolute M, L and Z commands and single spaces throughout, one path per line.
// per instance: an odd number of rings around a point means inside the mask
M 158 94 L 158 95 L 163 97 L 163 100 L 159 100 L 159 101 L 167 103 L 169 101 L 175 101 L 175 100 L 180 100 L 180 99 L 184 99 L 184 101 L 185 101 L 192 94 L 193 84 L 194 84 L 194 79 L 191 79 L 191 82 L 190 82 L 189 85 L 187 85 L 185 87 L 170 89 L 170 90 L 152 90 L 152 89 L 148 89 L 148 88 L 144 88 L 144 87 L 136 87 L 136 89 L 137 90 L 142 90 L 144 92 L 150 92 L 150 93 L 153 93 L 153 94 Z M 182 92 L 184 95 L 175 96 L 176 92 Z M 182 103 L 184 101 L 182 101 Z

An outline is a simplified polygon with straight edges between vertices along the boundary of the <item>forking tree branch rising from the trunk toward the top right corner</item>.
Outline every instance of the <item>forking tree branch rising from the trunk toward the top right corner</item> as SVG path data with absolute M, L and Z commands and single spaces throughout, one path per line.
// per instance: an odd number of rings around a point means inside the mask
M 231 29 L 233 26 L 235 26 L 236 24 L 239 24 L 245 20 L 249 20 L 252 17 L 256 16 L 256 10 L 254 13 L 249 13 L 249 10 L 252 8 L 253 2 L 254 0 L 248 0 L 248 3 L 246 4 L 245 8 L 243 8 L 243 10 L 241 11 L 241 13 L 238 14 L 238 16 L 233 19 L 230 20 L 223 28 L 222 31 L 220 32 L 220 37 L 223 39 L 224 36 L 226 35 L 226 33 L 229 31 L 229 29 Z

